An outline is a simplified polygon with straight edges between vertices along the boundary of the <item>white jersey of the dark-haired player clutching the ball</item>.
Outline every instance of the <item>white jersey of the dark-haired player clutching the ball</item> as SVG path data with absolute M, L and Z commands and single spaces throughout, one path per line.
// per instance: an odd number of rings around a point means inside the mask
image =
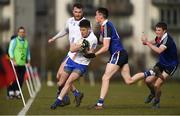
M 96 49 L 97 38 L 93 32 L 91 32 L 87 38 L 75 38 L 74 43 L 77 43 L 79 41 L 79 39 L 86 39 L 90 44 L 89 48 Z M 68 55 L 74 62 L 76 62 L 78 64 L 88 65 L 90 63 L 90 59 L 85 58 L 81 52 L 73 52 Z

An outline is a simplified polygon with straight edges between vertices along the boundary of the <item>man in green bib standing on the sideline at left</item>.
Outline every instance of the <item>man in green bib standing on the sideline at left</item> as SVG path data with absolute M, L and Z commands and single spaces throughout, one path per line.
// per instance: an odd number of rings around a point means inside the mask
M 18 34 L 15 36 L 9 44 L 9 57 L 13 61 L 20 86 L 22 87 L 24 81 L 24 74 L 26 72 L 25 65 L 30 66 L 30 49 L 28 40 L 26 38 L 26 32 L 24 27 L 18 28 Z M 14 97 L 21 98 L 20 91 L 17 82 L 14 82 L 7 89 L 8 98 Z

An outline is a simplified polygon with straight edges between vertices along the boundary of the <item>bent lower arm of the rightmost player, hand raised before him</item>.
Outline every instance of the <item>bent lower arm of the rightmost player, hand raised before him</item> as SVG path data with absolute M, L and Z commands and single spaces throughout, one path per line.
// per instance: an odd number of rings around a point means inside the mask
M 146 44 L 149 48 L 151 48 L 153 51 L 155 51 L 158 54 L 162 53 L 167 48 L 164 44 L 161 44 L 159 47 L 153 45 L 150 42 L 147 42 Z

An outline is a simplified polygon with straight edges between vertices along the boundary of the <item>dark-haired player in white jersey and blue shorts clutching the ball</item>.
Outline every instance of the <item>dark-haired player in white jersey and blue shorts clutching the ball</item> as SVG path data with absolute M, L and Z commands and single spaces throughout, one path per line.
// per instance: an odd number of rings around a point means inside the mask
M 97 46 L 97 38 L 91 30 L 90 22 L 86 19 L 82 20 L 79 24 L 82 38 L 75 38 L 74 43 L 70 46 L 70 54 L 65 66 L 64 72 L 61 76 L 61 82 L 65 85 L 59 94 L 56 101 L 51 105 L 51 109 L 56 109 L 62 104 L 63 97 L 68 92 L 72 83 L 83 75 L 88 68 L 90 59 L 83 56 L 86 52 L 93 52 Z M 80 97 L 77 94 L 77 97 Z M 81 101 L 79 101 L 80 105 Z

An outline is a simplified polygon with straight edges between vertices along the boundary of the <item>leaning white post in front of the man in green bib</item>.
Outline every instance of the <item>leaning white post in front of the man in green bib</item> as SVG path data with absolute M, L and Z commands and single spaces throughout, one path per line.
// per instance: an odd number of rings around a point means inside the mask
M 17 76 L 16 70 L 15 70 L 15 67 L 14 67 L 14 63 L 13 63 L 12 60 L 10 60 L 10 62 L 11 62 L 11 65 L 12 65 L 12 68 L 13 68 L 13 71 L 14 71 L 14 74 L 15 74 L 15 77 L 16 77 L 16 82 L 17 82 L 17 85 L 18 85 L 18 88 L 19 88 L 19 91 L 20 91 L 20 94 L 21 94 L 21 98 L 22 98 L 22 101 L 23 101 L 23 105 L 24 105 L 24 107 L 25 107 L 25 106 L 26 106 L 26 103 L 25 103 L 25 100 L 24 100 L 24 96 L 23 96 L 23 93 L 22 93 L 20 84 L 19 84 L 19 80 L 18 80 L 18 76 Z

